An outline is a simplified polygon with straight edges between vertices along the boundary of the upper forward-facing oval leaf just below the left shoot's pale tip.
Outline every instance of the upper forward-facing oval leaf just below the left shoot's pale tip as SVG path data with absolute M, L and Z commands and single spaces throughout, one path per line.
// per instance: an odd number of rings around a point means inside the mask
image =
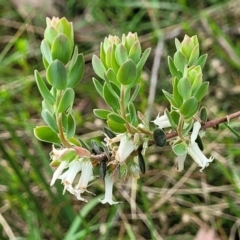
M 69 39 L 62 33 L 58 34 L 53 41 L 51 52 L 53 60 L 58 59 L 66 64 L 72 55 L 72 45 Z

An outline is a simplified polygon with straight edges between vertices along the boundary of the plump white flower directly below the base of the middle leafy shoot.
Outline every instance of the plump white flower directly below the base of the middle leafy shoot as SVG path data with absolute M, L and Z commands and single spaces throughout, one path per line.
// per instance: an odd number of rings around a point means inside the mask
M 124 162 L 136 148 L 137 146 L 126 135 L 123 135 L 116 153 L 116 160 L 120 163 Z

